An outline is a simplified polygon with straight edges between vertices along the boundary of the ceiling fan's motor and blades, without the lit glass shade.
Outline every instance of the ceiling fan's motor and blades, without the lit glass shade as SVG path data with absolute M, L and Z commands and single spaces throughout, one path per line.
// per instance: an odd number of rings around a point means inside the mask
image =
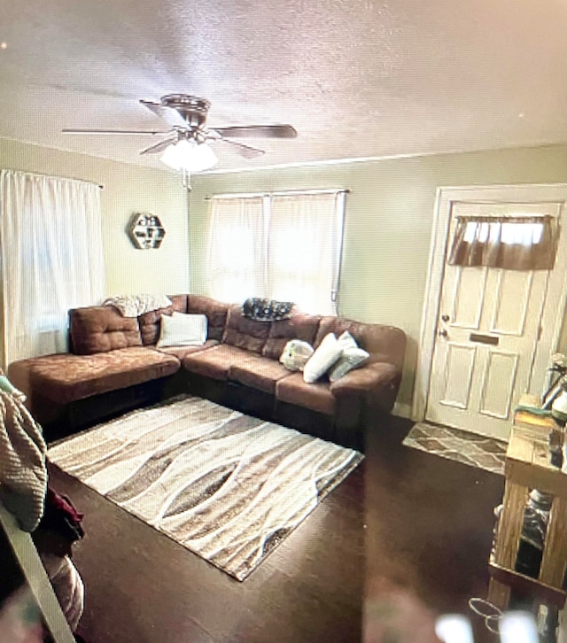
M 166 151 L 176 143 L 186 141 L 195 145 L 206 142 L 229 143 L 245 159 L 253 159 L 264 154 L 260 148 L 231 140 L 232 138 L 295 138 L 297 132 L 291 125 L 237 125 L 226 128 L 207 128 L 206 116 L 211 106 L 205 98 L 188 94 L 167 94 L 159 101 L 140 100 L 140 103 L 159 116 L 170 127 L 166 130 L 138 129 L 75 129 L 64 128 L 71 134 L 115 134 L 115 135 L 151 135 L 166 138 L 144 148 L 140 154 L 155 154 Z

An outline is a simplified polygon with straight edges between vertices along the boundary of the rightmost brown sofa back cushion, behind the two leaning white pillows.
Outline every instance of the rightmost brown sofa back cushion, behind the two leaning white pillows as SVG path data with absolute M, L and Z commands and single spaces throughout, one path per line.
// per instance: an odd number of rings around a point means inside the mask
M 406 352 L 406 335 L 403 330 L 393 326 L 353 322 L 341 317 L 323 317 L 319 322 L 314 347 L 320 345 L 322 338 L 328 333 L 335 333 L 339 337 L 345 330 L 348 330 L 361 348 L 370 353 L 365 364 L 385 361 L 402 368 Z

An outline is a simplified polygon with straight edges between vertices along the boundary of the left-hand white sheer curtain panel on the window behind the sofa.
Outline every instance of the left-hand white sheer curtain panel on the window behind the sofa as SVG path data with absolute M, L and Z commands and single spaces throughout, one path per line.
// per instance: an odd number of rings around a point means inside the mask
M 221 301 L 264 297 L 262 198 L 214 198 L 206 261 L 207 294 Z

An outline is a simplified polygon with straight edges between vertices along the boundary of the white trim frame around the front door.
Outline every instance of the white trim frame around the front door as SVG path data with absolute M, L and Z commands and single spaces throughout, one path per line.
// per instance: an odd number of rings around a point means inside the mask
M 412 403 L 412 420 L 423 421 L 429 396 L 433 349 L 439 318 L 439 302 L 445 271 L 451 209 L 454 202 L 476 203 L 563 203 L 559 214 L 563 229 L 562 243 L 558 244 L 556 259 L 559 265 L 567 262 L 567 183 L 538 183 L 523 185 L 489 185 L 466 187 L 441 187 L 437 189 L 435 209 L 431 229 L 431 245 L 428 262 L 427 282 L 423 299 L 422 323 L 419 334 L 416 380 Z M 555 302 L 555 313 L 549 311 L 551 302 Z M 567 271 L 553 270 L 549 275 L 546 302 L 542 319 L 552 320 L 543 324 L 540 341 L 532 364 L 530 382 L 532 392 L 543 392 L 545 371 L 548 368 L 549 356 L 556 348 L 567 304 Z M 537 374 L 534 377 L 534 374 Z

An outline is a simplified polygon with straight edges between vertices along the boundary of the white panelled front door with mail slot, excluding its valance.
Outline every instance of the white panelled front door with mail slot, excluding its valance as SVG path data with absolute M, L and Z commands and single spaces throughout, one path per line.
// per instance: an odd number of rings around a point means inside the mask
M 556 217 L 560 205 L 454 203 L 447 248 L 458 215 L 518 213 Z M 509 437 L 514 407 L 530 387 L 549 275 L 548 270 L 451 266 L 446 257 L 428 421 Z

